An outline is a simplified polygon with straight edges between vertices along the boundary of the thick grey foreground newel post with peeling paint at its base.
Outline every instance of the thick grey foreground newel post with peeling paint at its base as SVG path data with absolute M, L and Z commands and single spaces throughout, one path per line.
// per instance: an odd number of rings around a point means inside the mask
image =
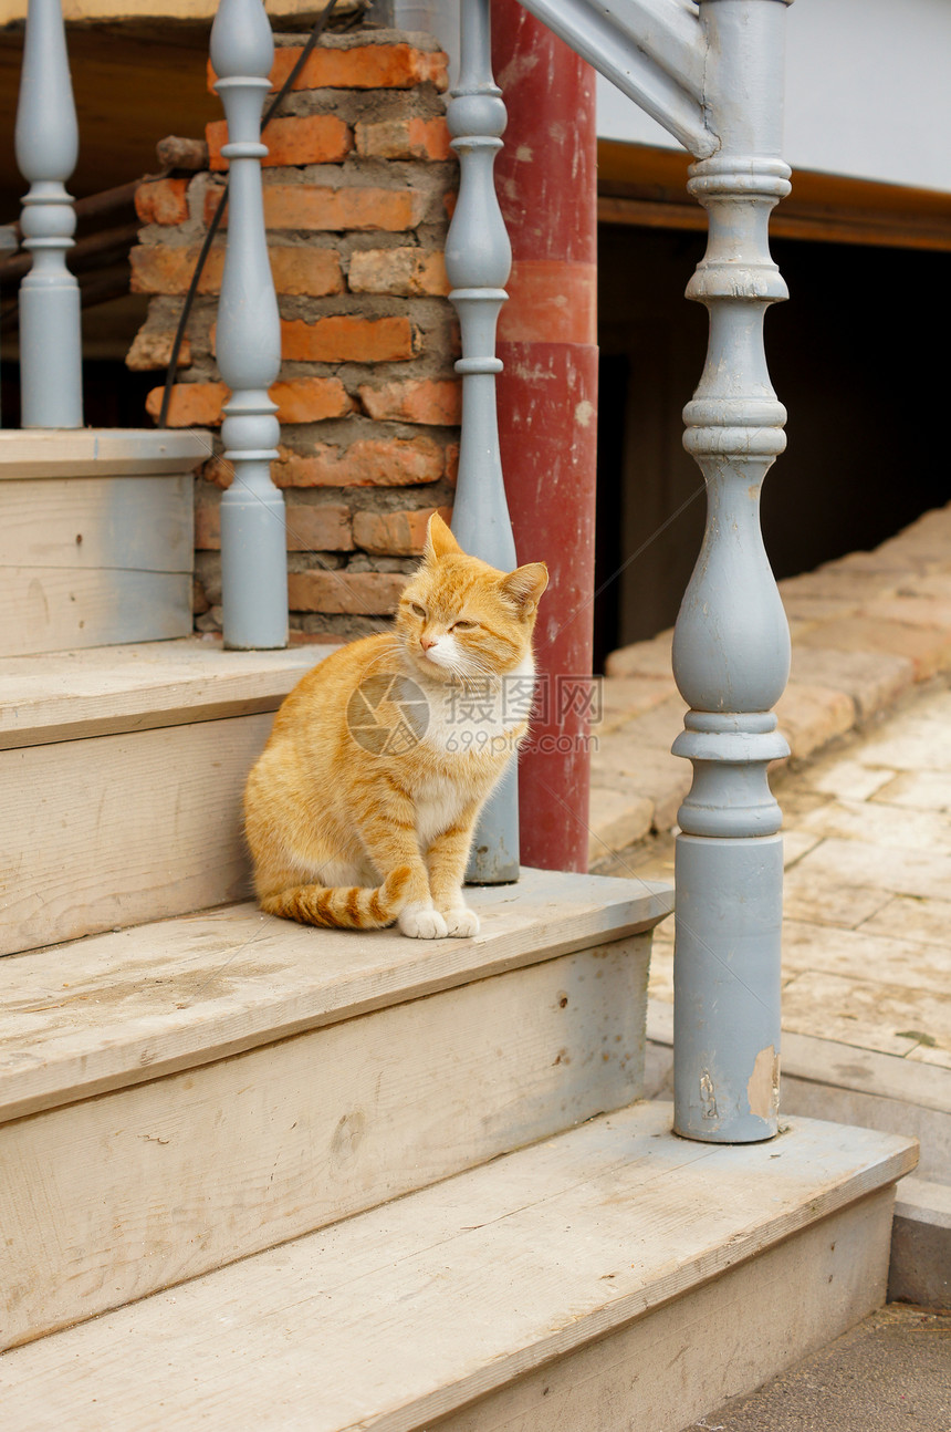
M 788 755 L 771 707 L 789 632 L 762 546 L 759 490 L 785 447 L 764 316 L 787 298 L 768 223 L 789 190 L 779 158 L 785 0 L 702 0 L 708 123 L 716 152 L 691 166 L 709 215 L 686 294 L 709 311 L 706 367 L 684 445 L 706 480 L 701 556 L 674 637 L 689 703 L 674 750 L 694 763 L 676 841 L 675 1128 L 748 1143 L 777 1133 L 782 839 L 768 763 Z

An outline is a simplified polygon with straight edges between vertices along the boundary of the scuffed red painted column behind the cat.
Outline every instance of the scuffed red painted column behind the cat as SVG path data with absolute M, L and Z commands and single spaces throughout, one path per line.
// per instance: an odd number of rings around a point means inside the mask
M 518 558 L 545 561 L 539 712 L 519 762 L 523 865 L 588 868 L 596 457 L 595 76 L 516 0 L 492 0 L 509 120 L 496 189 L 512 241 L 499 318 L 502 471 Z

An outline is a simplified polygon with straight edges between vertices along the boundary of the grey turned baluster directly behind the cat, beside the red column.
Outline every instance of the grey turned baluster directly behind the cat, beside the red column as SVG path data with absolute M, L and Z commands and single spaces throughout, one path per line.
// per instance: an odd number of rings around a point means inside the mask
M 499 457 L 495 407 L 495 329 L 512 248 L 495 193 L 493 165 L 502 147 L 506 113 L 492 77 L 489 0 L 462 0 L 459 83 L 448 110 L 452 147 L 459 155 L 459 199 L 446 236 L 449 298 L 459 314 L 462 358 L 462 437 L 452 530 L 475 557 L 511 571 L 516 566 Z M 512 765 L 482 812 L 466 879 L 496 885 L 519 876 L 518 770 Z

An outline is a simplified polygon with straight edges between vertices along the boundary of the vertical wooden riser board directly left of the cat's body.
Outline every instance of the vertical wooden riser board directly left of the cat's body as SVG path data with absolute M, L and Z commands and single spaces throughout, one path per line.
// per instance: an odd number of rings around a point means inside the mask
M 0 952 L 249 894 L 240 799 L 270 716 L 27 746 L 0 760 Z

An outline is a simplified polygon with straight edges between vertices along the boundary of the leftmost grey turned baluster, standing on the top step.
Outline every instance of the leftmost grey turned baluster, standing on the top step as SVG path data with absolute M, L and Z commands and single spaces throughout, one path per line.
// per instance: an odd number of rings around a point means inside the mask
M 17 105 L 16 156 L 30 192 L 23 246 L 33 266 L 20 284 L 20 421 L 24 428 L 82 428 L 83 349 L 79 284 L 66 268 L 76 211 L 66 180 L 79 127 L 60 0 L 30 0 Z

